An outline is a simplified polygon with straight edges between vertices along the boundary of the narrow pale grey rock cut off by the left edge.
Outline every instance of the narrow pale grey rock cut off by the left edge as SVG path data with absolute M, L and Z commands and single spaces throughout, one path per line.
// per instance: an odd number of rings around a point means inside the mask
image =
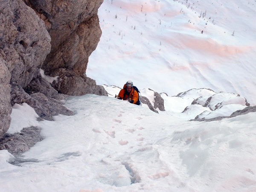
M 0 138 L 6 133 L 11 123 L 10 79 L 11 74 L 6 67 L 5 61 L 0 58 Z

